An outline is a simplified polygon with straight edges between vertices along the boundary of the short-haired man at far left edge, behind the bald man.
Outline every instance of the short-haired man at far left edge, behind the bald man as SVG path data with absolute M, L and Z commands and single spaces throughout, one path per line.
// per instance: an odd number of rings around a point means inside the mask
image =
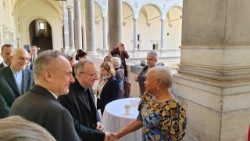
M 10 65 L 10 56 L 13 51 L 13 46 L 11 44 L 4 44 L 1 48 L 1 56 L 3 62 L 0 64 L 0 68 L 7 67 Z

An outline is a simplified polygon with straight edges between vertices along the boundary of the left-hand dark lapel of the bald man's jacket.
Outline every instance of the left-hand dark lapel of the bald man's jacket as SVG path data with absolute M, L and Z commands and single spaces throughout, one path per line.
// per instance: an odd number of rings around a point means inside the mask
M 6 67 L 5 70 L 6 70 L 5 71 L 6 72 L 6 75 L 5 75 L 6 81 L 8 82 L 10 87 L 15 91 L 15 93 L 20 95 L 18 87 L 16 85 L 16 80 L 15 80 L 15 78 L 13 76 L 13 73 L 12 73 L 12 71 L 10 69 L 10 66 Z

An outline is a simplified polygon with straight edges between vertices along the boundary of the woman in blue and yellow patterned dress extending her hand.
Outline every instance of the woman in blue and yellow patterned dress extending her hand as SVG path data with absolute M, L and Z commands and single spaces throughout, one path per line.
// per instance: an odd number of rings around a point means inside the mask
M 163 67 L 146 73 L 145 95 L 139 104 L 139 115 L 125 128 L 114 133 L 121 138 L 142 127 L 143 141 L 179 141 L 184 135 L 186 113 L 171 93 L 172 76 Z

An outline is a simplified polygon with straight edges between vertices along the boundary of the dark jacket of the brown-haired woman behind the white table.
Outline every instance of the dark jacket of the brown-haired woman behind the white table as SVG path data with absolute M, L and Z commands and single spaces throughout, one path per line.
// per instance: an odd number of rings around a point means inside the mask
M 109 102 L 122 97 L 119 82 L 115 77 L 110 77 L 102 88 L 100 99 L 97 99 L 97 109 L 101 109 L 103 113 L 105 106 Z

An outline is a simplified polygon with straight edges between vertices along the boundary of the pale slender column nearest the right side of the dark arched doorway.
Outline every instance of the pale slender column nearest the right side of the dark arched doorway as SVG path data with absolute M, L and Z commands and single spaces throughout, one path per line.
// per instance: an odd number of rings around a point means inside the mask
M 68 20 L 68 11 L 66 7 L 67 3 L 63 2 L 63 37 L 64 37 L 64 51 L 69 51 L 69 20 Z

